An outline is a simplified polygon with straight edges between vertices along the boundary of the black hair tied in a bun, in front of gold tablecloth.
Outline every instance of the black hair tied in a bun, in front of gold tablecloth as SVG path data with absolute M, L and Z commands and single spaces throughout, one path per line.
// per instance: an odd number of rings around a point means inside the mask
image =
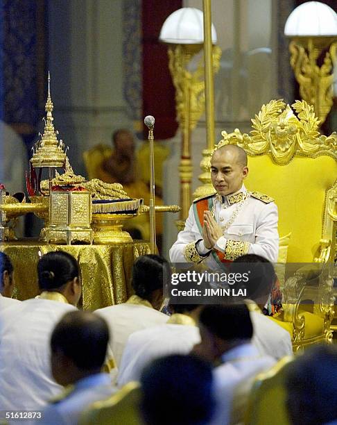
M 65 251 L 44 254 L 37 263 L 40 290 L 53 291 L 80 276 L 77 260 Z

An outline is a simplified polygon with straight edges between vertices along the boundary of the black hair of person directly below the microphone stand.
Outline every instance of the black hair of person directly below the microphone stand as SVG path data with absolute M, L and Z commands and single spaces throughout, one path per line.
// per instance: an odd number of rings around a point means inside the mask
M 140 256 L 132 267 L 132 288 L 142 299 L 151 301 L 155 290 L 162 290 L 165 282 L 171 276 L 168 261 L 155 254 Z

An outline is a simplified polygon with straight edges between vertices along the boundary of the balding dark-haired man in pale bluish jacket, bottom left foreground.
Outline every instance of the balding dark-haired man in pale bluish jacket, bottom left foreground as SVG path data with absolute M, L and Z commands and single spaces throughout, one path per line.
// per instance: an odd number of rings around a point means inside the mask
M 77 425 L 80 414 L 94 401 L 110 397 L 116 388 L 102 373 L 109 331 L 94 313 L 67 313 L 51 334 L 51 372 L 55 381 L 68 386 L 42 412 L 41 425 Z

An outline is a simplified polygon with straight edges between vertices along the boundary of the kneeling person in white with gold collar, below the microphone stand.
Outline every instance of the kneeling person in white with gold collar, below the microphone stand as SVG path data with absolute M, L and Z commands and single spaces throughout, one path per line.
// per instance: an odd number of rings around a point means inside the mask
M 159 308 L 163 301 L 163 280 L 170 275 L 170 265 L 164 258 L 153 254 L 138 257 L 132 269 L 135 294 L 126 303 L 96 310 L 109 326 L 109 345 L 117 367 L 131 333 L 167 322 L 168 316 L 160 313 Z

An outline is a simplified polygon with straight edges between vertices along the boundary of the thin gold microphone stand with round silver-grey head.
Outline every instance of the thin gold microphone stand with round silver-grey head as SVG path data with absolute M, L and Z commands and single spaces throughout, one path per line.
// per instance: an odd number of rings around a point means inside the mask
M 150 253 L 156 253 L 155 244 L 155 158 L 153 151 L 153 127 L 155 118 L 147 115 L 144 118 L 144 124 L 148 127 L 148 141 L 150 142 Z

